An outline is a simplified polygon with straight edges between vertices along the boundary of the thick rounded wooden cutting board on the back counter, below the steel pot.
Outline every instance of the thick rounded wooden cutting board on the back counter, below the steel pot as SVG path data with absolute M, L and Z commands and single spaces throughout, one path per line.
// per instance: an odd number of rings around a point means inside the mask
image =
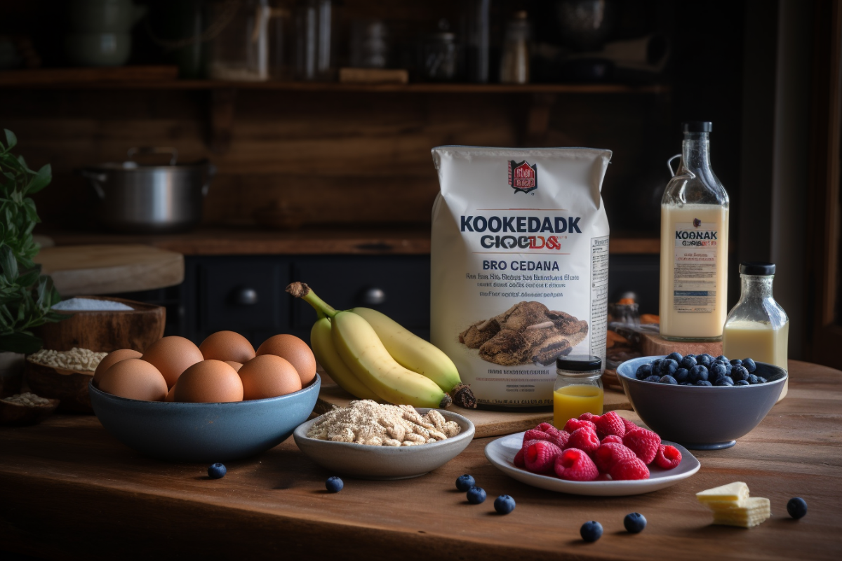
M 184 256 L 143 245 L 45 247 L 35 256 L 66 296 L 119 294 L 184 281 Z

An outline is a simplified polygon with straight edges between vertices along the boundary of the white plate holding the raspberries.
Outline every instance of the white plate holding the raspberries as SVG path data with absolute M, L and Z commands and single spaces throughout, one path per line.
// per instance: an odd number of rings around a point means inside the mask
M 664 444 L 674 446 L 681 453 L 681 463 L 672 469 L 661 469 L 649 466 L 649 479 L 633 481 L 566 481 L 549 475 L 532 474 L 525 469 L 514 466 L 514 454 L 518 453 L 523 444 L 524 433 L 511 434 L 488 442 L 485 447 L 485 457 L 504 474 L 517 479 L 521 483 L 532 485 L 540 489 L 570 493 L 571 495 L 642 495 L 669 487 L 681 479 L 687 479 L 701 468 L 701 463 L 687 448 L 674 442 L 663 441 Z

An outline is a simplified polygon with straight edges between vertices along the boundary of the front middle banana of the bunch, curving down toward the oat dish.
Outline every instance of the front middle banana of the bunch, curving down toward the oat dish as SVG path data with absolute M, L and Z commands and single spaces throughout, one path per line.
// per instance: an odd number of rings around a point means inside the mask
M 371 391 L 394 404 L 446 407 L 450 395 L 431 379 L 403 368 L 361 315 L 337 312 L 331 336 L 343 362 Z

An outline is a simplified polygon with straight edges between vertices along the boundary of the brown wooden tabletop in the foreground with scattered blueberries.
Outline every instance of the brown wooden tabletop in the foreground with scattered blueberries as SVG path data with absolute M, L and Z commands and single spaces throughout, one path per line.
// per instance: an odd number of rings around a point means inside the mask
M 257 458 L 161 463 L 124 447 L 92 416 L 54 416 L 0 429 L 0 551 L 44 558 L 831 559 L 842 552 L 842 373 L 791 362 L 785 400 L 737 446 L 696 452 L 701 470 L 665 490 L 630 497 L 562 495 L 520 484 L 483 456 L 492 438 L 418 479 L 331 475 L 290 440 Z M 633 415 L 633 414 L 632 414 Z M 454 482 L 469 473 L 488 492 L 469 505 Z M 695 492 L 742 480 L 769 497 L 772 518 L 750 530 L 711 526 Z M 517 507 L 493 511 L 509 494 Z M 794 521 L 786 501 L 807 500 Z M 623 516 L 646 516 L 637 535 Z M 585 543 L 584 521 L 604 536 Z M 0 557 L 3 554 L 0 553 Z

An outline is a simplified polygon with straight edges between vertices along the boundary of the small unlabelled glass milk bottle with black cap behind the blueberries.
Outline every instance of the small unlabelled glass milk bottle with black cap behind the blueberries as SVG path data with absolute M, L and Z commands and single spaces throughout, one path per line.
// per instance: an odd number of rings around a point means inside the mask
M 725 320 L 722 353 L 728 358 L 753 358 L 784 370 L 789 341 L 789 318 L 772 297 L 775 265 L 742 262 L 739 266 L 743 292 Z M 784 399 L 789 379 L 784 383 Z

